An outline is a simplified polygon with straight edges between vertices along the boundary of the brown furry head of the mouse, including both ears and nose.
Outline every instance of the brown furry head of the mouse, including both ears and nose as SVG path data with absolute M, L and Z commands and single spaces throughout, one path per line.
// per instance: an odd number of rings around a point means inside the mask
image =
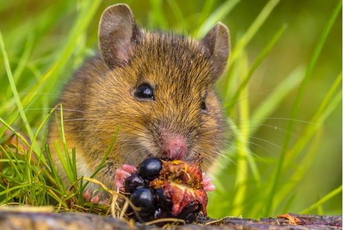
M 113 118 L 98 125 L 120 126 L 117 151 L 128 158 L 212 160 L 223 139 L 213 85 L 230 53 L 228 28 L 217 23 L 200 41 L 149 33 L 137 26 L 128 5 L 117 4 L 102 14 L 99 47 L 110 71 L 100 79 L 94 103 L 106 101 L 99 114 Z

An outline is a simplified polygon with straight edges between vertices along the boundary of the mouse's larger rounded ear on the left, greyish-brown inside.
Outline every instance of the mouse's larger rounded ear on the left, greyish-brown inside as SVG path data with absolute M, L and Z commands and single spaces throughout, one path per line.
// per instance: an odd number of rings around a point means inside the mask
M 129 63 L 143 31 L 135 23 L 129 5 L 115 4 L 104 10 L 99 24 L 99 49 L 110 68 Z

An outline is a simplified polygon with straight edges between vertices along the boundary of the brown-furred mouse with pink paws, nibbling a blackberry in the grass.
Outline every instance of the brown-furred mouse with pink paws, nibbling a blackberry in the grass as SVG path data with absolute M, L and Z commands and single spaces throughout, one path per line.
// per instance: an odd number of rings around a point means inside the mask
M 100 18 L 99 53 L 86 60 L 63 88 L 63 127 L 69 154 L 76 151 L 78 177 L 95 176 L 122 190 L 124 180 L 146 157 L 201 157 L 206 171 L 220 155 L 225 138 L 223 108 L 214 84 L 230 55 L 230 32 L 217 23 L 200 40 L 171 32 L 147 31 L 137 25 L 129 5 L 109 6 Z M 63 149 L 56 122 L 49 125 L 52 160 L 65 185 L 54 145 Z M 57 119 L 57 120 L 56 120 Z M 206 191 L 214 190 L 203 176 Z M 89 183 L 83 193 L 91 203 L 108 197 Z

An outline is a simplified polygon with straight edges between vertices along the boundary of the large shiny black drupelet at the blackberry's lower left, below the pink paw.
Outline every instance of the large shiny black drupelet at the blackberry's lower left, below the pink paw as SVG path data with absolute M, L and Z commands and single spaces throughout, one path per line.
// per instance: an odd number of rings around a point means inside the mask
M 155 211 L 154 195 L 148 188 L 137 188 L 135 192 L 131 194 L 131 202 L 137 206 L 142 207 L 140 214 L 151 214 Z

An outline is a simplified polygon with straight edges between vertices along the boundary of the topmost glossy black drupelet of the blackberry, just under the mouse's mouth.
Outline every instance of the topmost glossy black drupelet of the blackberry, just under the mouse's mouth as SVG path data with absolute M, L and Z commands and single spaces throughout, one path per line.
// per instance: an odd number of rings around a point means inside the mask
M 157 158 L 144 159 L 138 173 L 143 179 L 152 180 L 159 176 L 159 171 L 162 169 L 162 162 Z

